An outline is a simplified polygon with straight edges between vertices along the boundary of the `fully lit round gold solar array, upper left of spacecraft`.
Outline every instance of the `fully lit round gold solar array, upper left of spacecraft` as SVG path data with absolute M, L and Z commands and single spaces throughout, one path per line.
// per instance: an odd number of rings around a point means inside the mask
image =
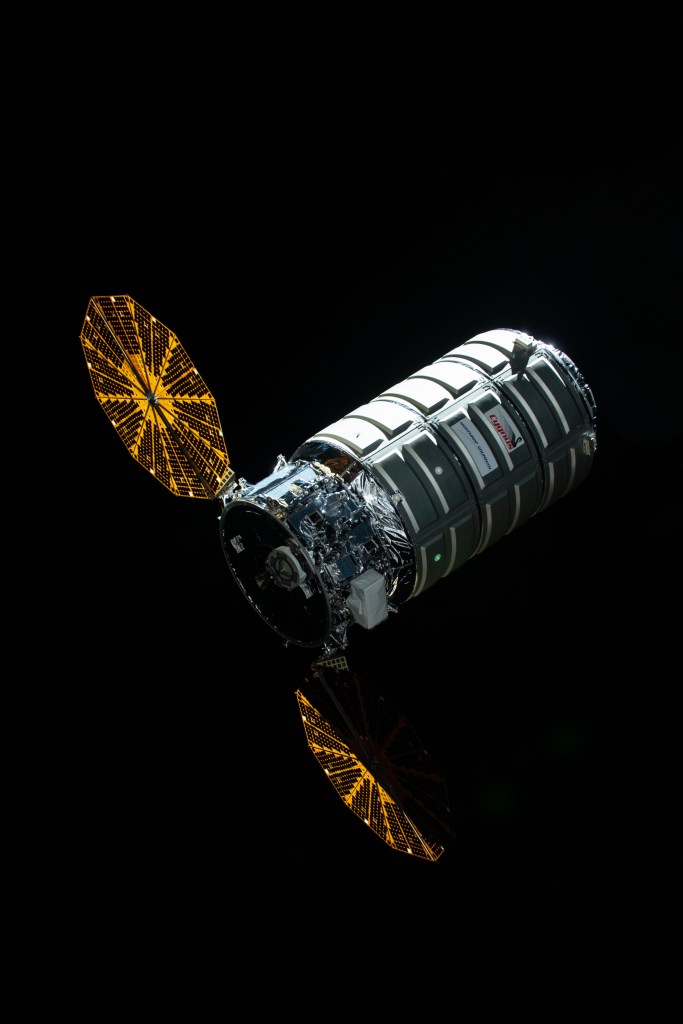
M 174 495 L 232 479 L 213 395 L 172 331 L 129 295 L 88 303 L 81 343 L 95 395 L 132 455 Z

